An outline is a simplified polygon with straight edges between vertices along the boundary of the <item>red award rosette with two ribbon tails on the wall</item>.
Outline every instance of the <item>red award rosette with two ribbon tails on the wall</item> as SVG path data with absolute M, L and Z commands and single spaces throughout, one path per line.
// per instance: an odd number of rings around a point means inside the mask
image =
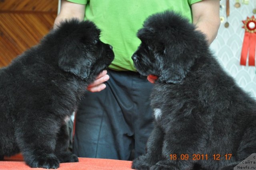
M 245 29 L 244 42 L 241 52 L 240 64 L 246 65 L 246 59 L 249 52 L 249 66 L 255 66 L 255 47 L 256 47 L 256 20 L 254 16 L 252 18 L 247 17 L 246 20 L 242 21 Z

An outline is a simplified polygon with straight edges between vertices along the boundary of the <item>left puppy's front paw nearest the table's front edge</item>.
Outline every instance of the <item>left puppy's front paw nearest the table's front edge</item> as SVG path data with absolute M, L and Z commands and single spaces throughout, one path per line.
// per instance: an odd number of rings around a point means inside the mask
M 32 161 L 26 161 L 31 168 L 46 168 L 57 169 L 60 167 L 60 162 L 54 154 L 47 154 L 33 158 Z

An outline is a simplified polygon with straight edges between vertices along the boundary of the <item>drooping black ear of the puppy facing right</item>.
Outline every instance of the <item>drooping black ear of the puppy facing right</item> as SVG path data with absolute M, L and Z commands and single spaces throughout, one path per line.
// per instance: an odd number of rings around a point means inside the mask
M 72 48 L 73 47 L 73 48 Z M 89 60 L 90 54 L 87 54 L 82 49 L 77 49 L 74 46 L 66 46 L 63 48 L 58 56 L 58 66 L 76 76 L 87 79 L 90 75 L 91 61 Z

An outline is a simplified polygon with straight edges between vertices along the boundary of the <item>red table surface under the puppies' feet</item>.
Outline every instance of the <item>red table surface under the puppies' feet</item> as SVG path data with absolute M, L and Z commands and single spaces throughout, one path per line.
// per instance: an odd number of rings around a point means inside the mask
M 132 170 L 132 161 L 78 158 L 79 162 L 60 163 L 58 170 Z M 22 156 L 5 158 L 0 161 L 0 170 L 46 170 L 44 168 L 30 168 L 22 160 Z

